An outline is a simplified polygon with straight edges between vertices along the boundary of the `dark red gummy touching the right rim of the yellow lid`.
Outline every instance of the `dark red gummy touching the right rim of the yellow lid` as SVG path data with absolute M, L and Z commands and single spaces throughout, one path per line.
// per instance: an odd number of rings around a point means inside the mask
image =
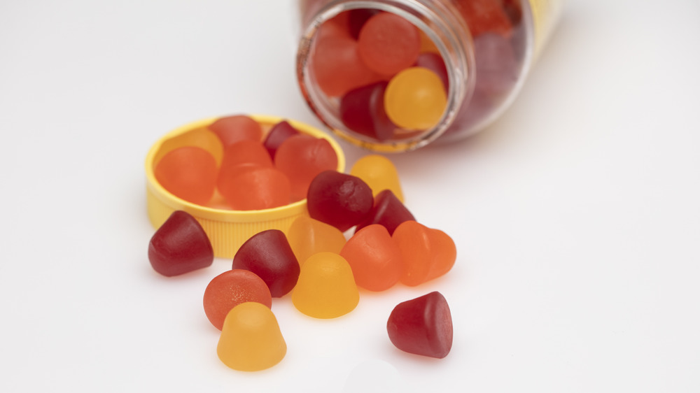
M 362 179 L 323 171 L 311 180 L 307 194 L 309 215 L 346 231 L 363 222 L 372 210 L 372 189 Z

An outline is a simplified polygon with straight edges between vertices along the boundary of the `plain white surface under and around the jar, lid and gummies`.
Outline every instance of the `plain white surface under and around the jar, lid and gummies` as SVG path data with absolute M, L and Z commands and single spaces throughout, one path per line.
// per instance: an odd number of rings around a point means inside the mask
M 0 3 L 0 391 L 339 392 L 372 362 L 416 392 L 700 391 L 692 0 L 569 1 L 493 127 L 392 157 L 407 206 L 456 240 L 454 269 L 337 320 L 276 300 L 283 362 L 221 364 L 201 301 L 230 262 L 153 272 L 143 162 L 203 117 L 319 125 L 295 85 L 292 2 L 272 3 Z M 456 331 L 440 361 L 384 327 L 433 290 Z

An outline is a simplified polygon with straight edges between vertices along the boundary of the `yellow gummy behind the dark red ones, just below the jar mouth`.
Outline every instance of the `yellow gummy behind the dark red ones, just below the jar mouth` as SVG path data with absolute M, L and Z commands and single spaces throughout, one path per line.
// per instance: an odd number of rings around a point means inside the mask
M 391 190 L 403 203 L 398 171 L 390 159 L 382 155 L 365 155 L 355 162 L 350 169 L 350 174 L 364 180 L 372 189 L 374 197 L 382 190 Z

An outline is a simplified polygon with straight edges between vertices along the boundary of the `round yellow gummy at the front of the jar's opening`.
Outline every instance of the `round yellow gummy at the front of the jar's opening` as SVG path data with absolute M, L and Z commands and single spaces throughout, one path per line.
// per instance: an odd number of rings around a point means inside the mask
M 384 92 L 386 115 L 405 129 L 435 127 L 446 106 L 442 80 L 423 67 L 410 67 L 396 74 Z

